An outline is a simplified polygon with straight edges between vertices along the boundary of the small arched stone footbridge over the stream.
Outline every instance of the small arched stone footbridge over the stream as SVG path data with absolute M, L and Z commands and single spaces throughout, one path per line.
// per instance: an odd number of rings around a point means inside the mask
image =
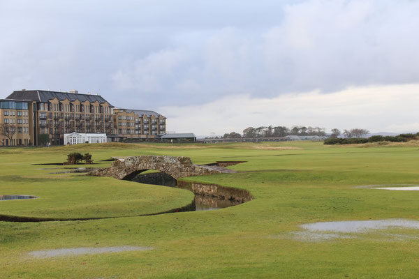
M 137 174 L 145 172 L 148 169 L 156 169 L 169 174 L 175 179 L 186 176 L 234 172 L 231 169 L 223 167 L 193 165 L 189 157 L 134 156 L 119 158 L 110 167 L 96 169 L 89 172 L 88 175 L 112 176 L 115 179 L 131 180 Z

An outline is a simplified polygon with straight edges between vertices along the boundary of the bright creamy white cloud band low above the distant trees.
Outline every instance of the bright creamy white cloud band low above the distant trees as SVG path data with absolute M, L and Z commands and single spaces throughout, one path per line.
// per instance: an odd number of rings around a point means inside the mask
M 249 126 L 321 126 L 366 128 L 371 132 L 419 130 L 419 84 L 352 87 L 323 94 L 287 93 L 274 98 L 228 96 L 204 105 L 160 107 L 168 130 L 241 133 Z M 406 124 L 411 123 L 411 124 Z

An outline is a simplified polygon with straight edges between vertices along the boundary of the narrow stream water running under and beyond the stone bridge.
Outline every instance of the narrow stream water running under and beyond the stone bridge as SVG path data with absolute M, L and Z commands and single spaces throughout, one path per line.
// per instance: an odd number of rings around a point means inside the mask
M 180 183 L 177 183 L 176 179 L 174 179 L 172 176 L 165 174 L 163 172 L 156 172 L 152 174 L 138 174 L 132 179 L 132 181 L 145 183 L 145 184 L 168 186 L 168 187 L 173 187 L 173 188 L 182 188 L 186 190 L 191 190 L 191 188 L 187 186 L 183 186 Z M 242 204 L 242 201 L 237 201 L 236 199 L 226 199 L 225 197 L 219 198 L 212 195 L 200 195 L 197 193 L 194 193 L 194 195 L 195 195 L 195 198 L 193 199 L 193 202 L 190 206 L 191 209 L 188 211 L 223 209 L 228 206 L 235 206 L 237 204 Z

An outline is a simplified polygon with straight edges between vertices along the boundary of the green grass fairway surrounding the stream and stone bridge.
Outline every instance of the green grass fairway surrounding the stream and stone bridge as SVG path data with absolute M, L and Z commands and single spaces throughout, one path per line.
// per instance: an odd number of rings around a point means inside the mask
M 71 151 L 111 156 L 189 156 L 193 163 L 247 161 L 235 174 L 185 180 L 244 188 L 251 202 L 216 211 L 168 213 L 187 191 L 76 174 L 50 174 Z M 57 167 L 57 166 L 55 166 Z M 419 192 L 355 188 L 419 184 L 418 146 L 91 144 L 0 149 L 0 214 L 107 218 L 0 222 L 0 278 L 418 278 L 419 230 L 388 228 L 346 238 L 304 239 L 322 221 L 419 220 Z M 31 251 L 146 246 L 152 250 L 37 259 Z

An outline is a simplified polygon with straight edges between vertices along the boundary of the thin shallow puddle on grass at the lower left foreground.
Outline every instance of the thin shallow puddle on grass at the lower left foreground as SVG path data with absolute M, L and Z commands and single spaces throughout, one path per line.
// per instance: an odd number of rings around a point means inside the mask
M 152 247 L 144 246 L 115 246 L 115 247 L 81 247 L 81 248 L 63 248 L 54 250 L 40 250 L 29 252 L 31 257 L 45 259 L 48 257 L 65 257 L 77 255 L 102 254 L 108 252 L 126 252 L 126 251 L 145 251 L 152 250 Z

